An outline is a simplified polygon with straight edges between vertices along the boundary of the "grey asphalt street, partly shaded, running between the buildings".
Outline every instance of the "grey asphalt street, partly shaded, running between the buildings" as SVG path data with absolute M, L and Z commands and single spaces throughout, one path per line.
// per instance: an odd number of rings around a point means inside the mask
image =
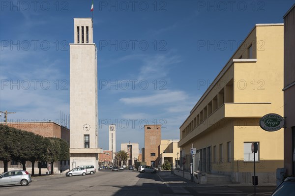
M 268 196 L 275 187 L 257 187 Z M 33 177 L 29 186 L 0 187 L 0 196 L 250 196 L 252 186 L 197 185 L 171 172 L 139 173 L 109 169 L 94 175 Z

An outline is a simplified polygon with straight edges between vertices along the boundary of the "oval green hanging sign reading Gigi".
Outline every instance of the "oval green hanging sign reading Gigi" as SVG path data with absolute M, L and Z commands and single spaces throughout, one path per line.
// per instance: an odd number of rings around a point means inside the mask
M 284 127 L 285 120 L 276 113 L 268 113 L 260 118 L 259 125 L 266 131 L 277 131 Z

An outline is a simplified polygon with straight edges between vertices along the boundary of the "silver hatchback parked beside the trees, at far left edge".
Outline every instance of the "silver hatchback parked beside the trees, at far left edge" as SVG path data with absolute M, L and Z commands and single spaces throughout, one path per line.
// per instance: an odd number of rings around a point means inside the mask
M 28 185 L 32 181 L 31 175 L 25 170 L 7 171 L 0 175 L 0 186 L 21 184 Z

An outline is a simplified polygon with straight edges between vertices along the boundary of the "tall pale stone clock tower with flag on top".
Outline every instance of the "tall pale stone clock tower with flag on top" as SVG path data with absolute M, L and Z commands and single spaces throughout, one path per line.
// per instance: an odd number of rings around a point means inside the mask
M 97 48 L 91 18 L 74 18 L 70 44 L 70 168 L 98 168 Z

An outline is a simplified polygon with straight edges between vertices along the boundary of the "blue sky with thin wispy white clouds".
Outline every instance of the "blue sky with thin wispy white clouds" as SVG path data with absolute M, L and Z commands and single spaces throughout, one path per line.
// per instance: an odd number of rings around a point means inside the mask
M 109 148 L 109 123 L 117 150 L 129 141 L 144 147 L 146 123 L 162 124 L 162 139 L 179 139 L 179 126 L 255 24 L 283 23 L 294 3 L 94 0 L 99 146 Z M 0 111 L 16 112 L 9 121 L 60 124 L 60 111 L 69 115 L 73 18 L 91 17 L 90 7 L 0 1 Z

